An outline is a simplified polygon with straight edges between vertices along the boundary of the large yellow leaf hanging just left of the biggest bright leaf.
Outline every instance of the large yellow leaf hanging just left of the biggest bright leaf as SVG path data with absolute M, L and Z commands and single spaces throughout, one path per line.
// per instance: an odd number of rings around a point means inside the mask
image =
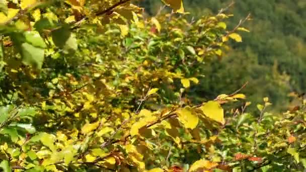
M 194 129 L 199 122 L 199 117 L 187 109 L 177 110 L 179 121 L 184 124 L 185 128 Z

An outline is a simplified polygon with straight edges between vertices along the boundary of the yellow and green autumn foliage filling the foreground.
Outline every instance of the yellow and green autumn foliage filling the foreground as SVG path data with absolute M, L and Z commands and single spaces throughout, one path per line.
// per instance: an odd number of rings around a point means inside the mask
M 304 106 L 227 109 L 240 90 L 193 100 L 242 23 L 227 30 L 223 12 L 189 21 L 181 1 L 165 3 L 181 14 L 145 18 L 123 0 L 0 6 L 4 171 L 303 168 Z

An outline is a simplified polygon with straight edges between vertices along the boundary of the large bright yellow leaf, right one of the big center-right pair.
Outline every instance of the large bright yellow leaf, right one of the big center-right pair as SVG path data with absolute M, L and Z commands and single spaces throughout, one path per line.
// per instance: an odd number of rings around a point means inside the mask
M 201 106 L 201 110 L 207 117 L 221 124 L 225 123 L 223 109 L 218 102 L 209 101 Z

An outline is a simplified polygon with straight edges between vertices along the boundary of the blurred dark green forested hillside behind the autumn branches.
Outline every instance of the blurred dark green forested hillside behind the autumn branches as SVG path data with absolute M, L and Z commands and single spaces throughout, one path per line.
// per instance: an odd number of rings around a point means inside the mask
M 231 1 L 185 0 L 191 16 L 216 14 Z M 154 0 L 141 3 L 148 14 L 155 15 L 161 4 Z M 306 1 L 303 0 L 237 0 L 228 9 L 234 14 L 230 28 L 249 13 L 252 21 L 245 24 L 251 33 L 242 33 L 243 42 L 232 48 L 222 60 L 205 67 L 206 77 L 195 93 L 212 98 L 220 92 L 228 93 L 249 81 L 244 92 L 253 102 L 268 96 L 276 110 L 288 106 L 288 93 L 302 93 L 306 89 Z

